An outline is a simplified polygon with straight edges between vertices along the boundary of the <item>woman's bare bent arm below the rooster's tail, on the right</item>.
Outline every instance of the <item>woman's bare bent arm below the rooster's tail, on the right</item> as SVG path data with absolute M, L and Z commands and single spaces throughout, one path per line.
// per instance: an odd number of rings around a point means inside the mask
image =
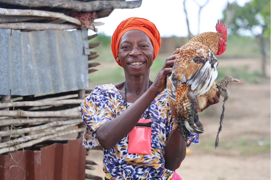
M 165 147 L 165 168 L 175 171 L 185 158 L 186 143 L 178 128 L 171 131 Z

